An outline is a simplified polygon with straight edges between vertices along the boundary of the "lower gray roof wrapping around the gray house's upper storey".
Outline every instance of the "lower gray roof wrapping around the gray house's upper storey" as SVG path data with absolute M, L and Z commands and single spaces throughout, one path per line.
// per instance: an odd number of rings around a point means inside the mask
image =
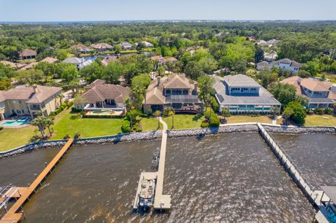
M 243 75 L 244 76 L 244 75 Z M 267 92 L 267 90 L 258 84 L 259 94 L 239 94 L 229 95 L 228 89 L 223 83 L 224 78 L 220 78 L 217 75 L 214 76 L 215 83 L 214 89 L 216 90 L 216 97 L 222 105 L 236 105 L 236 104 L 255 104 L 255 105 L 276 105 L 280 106 L 281 103 L 274 99 L 274 96 Z M 249 86 L 248 86 L 249 87 Z M 255 87 L 253 85 L 253 87 Z

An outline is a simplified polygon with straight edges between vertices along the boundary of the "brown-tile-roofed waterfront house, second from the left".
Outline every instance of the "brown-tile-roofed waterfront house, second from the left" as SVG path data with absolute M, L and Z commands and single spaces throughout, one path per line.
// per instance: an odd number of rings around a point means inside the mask
M 107 84 L 105 80 L 94 80 L 87 91 L 82 94 L 85 111 L 115 110 L 125 111 L 125 99 L 130 95 L 130 88 L 120 85 Z

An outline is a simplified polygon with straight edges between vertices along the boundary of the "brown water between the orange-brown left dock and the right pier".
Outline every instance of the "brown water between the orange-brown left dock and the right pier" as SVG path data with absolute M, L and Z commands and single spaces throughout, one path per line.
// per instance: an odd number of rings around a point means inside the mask
M 25 205 L 23 222 L 311 222 L 313 218 L 313 208 L 258 134 L 169 138 L 164 194 L 172 194 L 171 213 L 132 214 L 140 171 L 150 170 L 159 145 L 160 141 L 143 141 L 71 148 Z M 45 152 L 54 151 L 36 151 Z M 37 163 L 41 156 L 27 159 Z

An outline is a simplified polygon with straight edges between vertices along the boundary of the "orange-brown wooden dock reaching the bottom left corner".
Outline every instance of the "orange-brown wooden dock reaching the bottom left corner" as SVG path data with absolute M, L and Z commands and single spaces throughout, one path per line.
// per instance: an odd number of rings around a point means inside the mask
M 57 153 L 57 155 L 50 161 L 48 166 L 44 168 L 44 170 L 38 175 L 38 177 L 31 183 L 31 185 L 25 189 L 25 191 L 20 194 L 20 198 L 16 201 L 13 206 L 8 210 L 8 212 L 1 218 L 0 223 L 17 223 L 21 220 L 23 213 L 18 213 L 25 202 L 29 199 L 29 197 L 36 192 L 36 189 L 41 185 L 41 182 L 45 180 L 49 173 L 51 173 L 52 168 L 56 166 L 60 159 L 64 156 L 66 151 L 69 150 L 70 146 L 73 143 L 73 138 L 69 139 L 66 144 L 63 146 L 61 150 Z

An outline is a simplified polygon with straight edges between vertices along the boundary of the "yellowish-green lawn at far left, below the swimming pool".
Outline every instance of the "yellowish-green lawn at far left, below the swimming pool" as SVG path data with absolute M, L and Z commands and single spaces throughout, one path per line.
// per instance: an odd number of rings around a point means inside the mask
M 29 143 L 31 136 L 34 136 L 35 129 L 36 127 L 25 127 L 0 130 L 0 151 L 10 150 Z

